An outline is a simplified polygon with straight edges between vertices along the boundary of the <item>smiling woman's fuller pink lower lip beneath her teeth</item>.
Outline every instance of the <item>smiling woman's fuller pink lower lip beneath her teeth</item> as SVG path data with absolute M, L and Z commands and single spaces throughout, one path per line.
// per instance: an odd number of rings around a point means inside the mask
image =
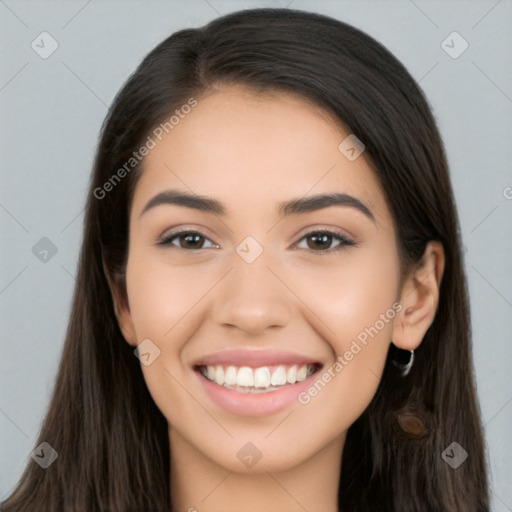
M 208 380 L 201 372 L 195 372 L 201 380 L 206 394 L 224 410 L 238 416 L 262 417 L 282 411 L 305 391 L 318 377 L 319 371 L 307 379 L 288 384 L 276 391 L 267 393 L 239 393 Z

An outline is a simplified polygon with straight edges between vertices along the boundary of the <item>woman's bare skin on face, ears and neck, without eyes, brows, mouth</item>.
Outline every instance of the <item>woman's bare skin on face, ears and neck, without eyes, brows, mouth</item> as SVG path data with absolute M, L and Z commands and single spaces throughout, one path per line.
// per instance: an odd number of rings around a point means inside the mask
M 219 86 L 144 160 L 131 208 L 126 295 L 118 284 L 112 291 L 126 341 L 135 347 L 149 338 L 161 351 L 141 368 L 168 420 L 178 511 L 338 510 L 346 432 L 374 396 L 391 340 L 415 349 L 432 323 L 442 247 L 430 242 L 423 265 L 400 280 L 393 219 L 377 178 L 364 153 L 349 161 L 338 150 L 349 133 L 301 98 Z M 141 215 L 168 189 L 213 197 L 227 215 L 169 204 Z M 281 201 L 332 192 L 358 198 L 374 220 L 349 206 L 278 214 Z M 157 245 L 177 229 L 207 238 L 195 250 L 180 248 L 183 237 Z M 304 237 L 320 229 L 356 244 L 333 252 L 333 238 L 319 250 Z M 250 264 L 236 252 L 247 236 L 263 248 Z M 231 414 L 209 399 L 191 367 L 225 348 L 258 347 L 293 350 L 328 368 L 397 301 L 395 318 L 307 405 L 259 418 Z M 262 453 L 252 468 L 237 457 L 247 442 Z

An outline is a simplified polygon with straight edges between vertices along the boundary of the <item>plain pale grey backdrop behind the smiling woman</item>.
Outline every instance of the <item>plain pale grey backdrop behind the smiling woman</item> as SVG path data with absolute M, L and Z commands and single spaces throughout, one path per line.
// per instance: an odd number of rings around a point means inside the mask
M 175 30 L 270 6 L 317 11 L 368 32 L 429 98 L 462 224 L 493 511 L 512 510 L 511 0 L 0 0 L 0 499 L 28 462 L 50 399 L 107 106 L 145 54 Z M 31 47 L 43 31 L 59 45 L 47 59 Z M 456 59 L 441 46 L 453 31 L 469 44 Z M 462 48 L 448 44 L 452 52 Z M 42 237 L 58 249 L 46 262 L 32 251 Z

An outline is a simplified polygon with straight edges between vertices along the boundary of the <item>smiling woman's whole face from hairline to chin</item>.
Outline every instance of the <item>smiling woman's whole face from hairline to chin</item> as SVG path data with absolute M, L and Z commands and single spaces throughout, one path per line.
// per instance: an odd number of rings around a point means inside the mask
M 120 325 L 149 340 L 142 371 L 171 443 L 229 470 L 248 471 L 249 442 L 253 472 L 342 443 L 377 389 L 399 261 L 364 153 L 338 149 L 348 135 L 302 99 L 231 86 L 144 159 Z

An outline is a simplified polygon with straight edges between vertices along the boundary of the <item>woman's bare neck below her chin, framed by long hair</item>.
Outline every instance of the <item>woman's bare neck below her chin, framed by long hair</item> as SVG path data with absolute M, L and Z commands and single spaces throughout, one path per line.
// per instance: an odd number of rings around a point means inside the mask
M 338 512 L 345 434 L 289 469 L 272 471 L 262 459 L 249 473 L 217 464 L 172 427 L 169 441 L 175 512 Z

